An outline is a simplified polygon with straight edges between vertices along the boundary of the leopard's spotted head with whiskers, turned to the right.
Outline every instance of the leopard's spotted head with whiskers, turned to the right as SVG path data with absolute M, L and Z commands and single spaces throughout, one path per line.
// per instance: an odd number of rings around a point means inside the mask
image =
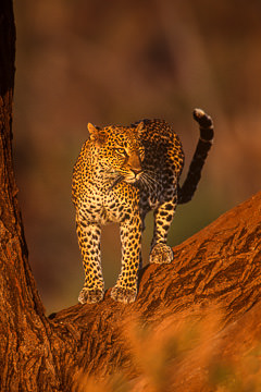
M 144 123 L 134 127 L 88 124 L 90 140 L 101 171 L 114 182 L 135 183 L 142 174 L 144 147 L 139 142 Z

